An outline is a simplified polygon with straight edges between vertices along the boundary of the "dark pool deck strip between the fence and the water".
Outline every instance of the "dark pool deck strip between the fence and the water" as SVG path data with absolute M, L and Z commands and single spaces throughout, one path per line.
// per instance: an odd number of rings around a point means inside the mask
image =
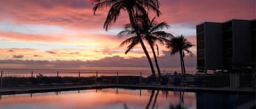
M 58 92 L 58 91 L 74 91 L 82 89 L 96 88 L 132 88 L 132 89 L 156 89 L 168 91 L 186 91 L 186 92 L 227 92 L 227 93 L 248 93 L 256 94 L 255 89 L 245 88 L 209 88 L 209 87 L 189 87 L 189 86 L 161 86 L 161 85 L 69 85 L 69 86 L 37 86 L 37 87 L 4 87 L 0 88 L 0 95 L 20 94 L 20 93 L 41 93 L 41 92 Z

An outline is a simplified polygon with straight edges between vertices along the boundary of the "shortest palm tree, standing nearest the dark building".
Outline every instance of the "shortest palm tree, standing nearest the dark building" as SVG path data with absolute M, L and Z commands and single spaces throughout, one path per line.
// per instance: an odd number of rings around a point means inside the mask
M 187 52 L 190 56 L 193 56 L 193 53 L 189 50 L 189 48 L 193 47 L 194 44 L 187 41 L 187 39 L 183 35 L 174 37 L 169 41 L 167 41 L 166 43 L 167 43 L 167 48 L 171 49 L 171 55 L 175 55 L 176 53 L 180 54 L 182 74 L 186 74 L 184 60 L 183 60 L 184 52 Z

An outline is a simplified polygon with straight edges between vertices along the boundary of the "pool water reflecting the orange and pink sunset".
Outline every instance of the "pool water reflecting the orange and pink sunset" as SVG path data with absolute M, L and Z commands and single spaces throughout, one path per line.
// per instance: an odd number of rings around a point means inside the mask
M 105 88 L 0 96 L 1 109 L 231 109 L 255 95 Z

